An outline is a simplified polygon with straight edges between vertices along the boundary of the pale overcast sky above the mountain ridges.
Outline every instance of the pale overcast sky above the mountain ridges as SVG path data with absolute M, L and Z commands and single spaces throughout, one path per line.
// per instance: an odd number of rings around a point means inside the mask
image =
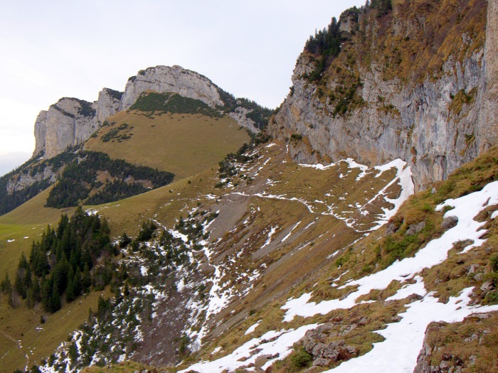
M 4 1 L 0 12 L 0 175 L 34 150 L 34 122 L 61 97 L 157 65 L 206 75 L 275 108 L 309 35 L 364 0 Z M 14 161 L 6 161 L 14 159 Z M 10 162 L 10 163 L 9 163 Z M 14 163 L 12 163 L 14 162 Z M 7 167 L 2 170 L 1 167 Z

